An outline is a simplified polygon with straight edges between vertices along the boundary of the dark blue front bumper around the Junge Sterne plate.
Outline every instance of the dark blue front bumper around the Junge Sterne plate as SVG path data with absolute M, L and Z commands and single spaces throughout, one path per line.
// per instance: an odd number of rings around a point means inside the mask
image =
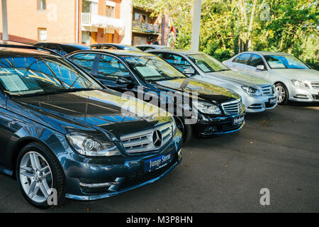
M 95 200 L 127 192 L 150 184 L 167 175 L 181 162 L 181 133 L 158 153 L 147 153 L 107 159 L 93 159 L 73 153 L 63 158 L 67 194 L 69 199 Z M 174 154 L 172 161 L 152 172 L 144 172 L 144 160 L 167 153 Z

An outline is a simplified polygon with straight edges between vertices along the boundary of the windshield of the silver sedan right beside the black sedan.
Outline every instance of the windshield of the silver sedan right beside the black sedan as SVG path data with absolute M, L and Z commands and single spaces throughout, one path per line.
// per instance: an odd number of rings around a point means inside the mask
M 229 70 L 221 62 L 206 54 L 187 55 L 203 72 L 219 72 Z

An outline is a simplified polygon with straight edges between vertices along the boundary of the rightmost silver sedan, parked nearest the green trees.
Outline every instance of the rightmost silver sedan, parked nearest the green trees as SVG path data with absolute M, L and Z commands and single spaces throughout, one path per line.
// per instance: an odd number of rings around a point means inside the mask
M 278 104 L 291 101 L 319 101 L 319 72 L 293 55 L 282 52 L 242 52 L 224 65 L 274 83 Z

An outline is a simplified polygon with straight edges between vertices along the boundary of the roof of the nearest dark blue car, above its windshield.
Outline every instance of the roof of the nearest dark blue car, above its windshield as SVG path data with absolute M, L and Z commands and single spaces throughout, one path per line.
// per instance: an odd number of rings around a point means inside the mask
M 1 57 L 57 57 L 43 50 L 0 47 Z

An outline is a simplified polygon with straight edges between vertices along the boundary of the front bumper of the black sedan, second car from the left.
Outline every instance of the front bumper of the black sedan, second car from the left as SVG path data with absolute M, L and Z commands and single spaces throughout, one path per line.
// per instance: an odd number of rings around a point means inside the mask
M 245 121 L 233 124 L 233 119 L 237 117 L 245 117 L 245 112 L 242 114 L 234 114 L 230 116 L 209 117 L 200 116 L 198 123 L 193 126 L 194 133 L 200 136 L 225 135 L 240 131 L 245 125 Z

